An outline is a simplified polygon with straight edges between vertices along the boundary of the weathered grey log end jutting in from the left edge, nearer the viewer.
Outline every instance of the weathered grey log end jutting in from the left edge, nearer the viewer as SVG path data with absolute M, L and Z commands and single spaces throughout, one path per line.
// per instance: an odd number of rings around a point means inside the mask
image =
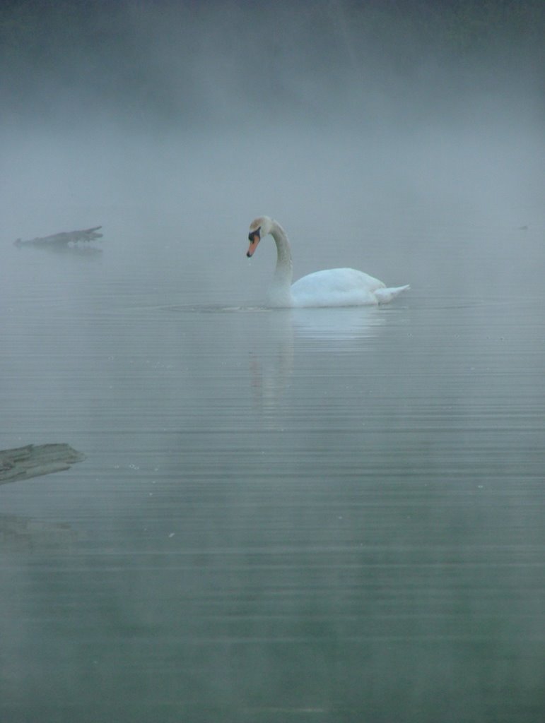
M 66 444 L 26 445 L 0 450 L 0 484 L 62 472 L 84 459 L 84 454 Z

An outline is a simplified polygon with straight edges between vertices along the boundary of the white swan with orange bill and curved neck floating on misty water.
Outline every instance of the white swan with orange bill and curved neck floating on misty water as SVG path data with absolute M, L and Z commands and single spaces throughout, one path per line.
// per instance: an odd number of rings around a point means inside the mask
M 407 286 L 386 288 L 382 281 L 355 269 L 327 269 L 303 276 L 292 284 L 293 266 L 290 242 L 286 232 L 269 216 L 260 216 L 250 223 L 252 257 L 259 241 L 271 234 L 276 242 L 278 258 L 269 288 L 269 301 L 274 307 L 356 307 L 363 304 L 386 304 Z

